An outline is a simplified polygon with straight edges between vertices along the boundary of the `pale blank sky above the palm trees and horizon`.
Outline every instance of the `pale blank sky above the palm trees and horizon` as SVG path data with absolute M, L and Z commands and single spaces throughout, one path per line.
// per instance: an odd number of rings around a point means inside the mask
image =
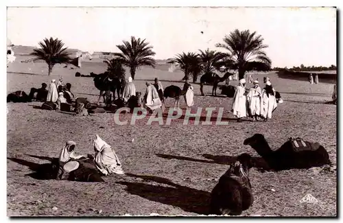
M 69 48 L 115 52 L 137 36 L 167 59 L 223 51 L 215 44 L 238 29 L 263 37 L 272 67 L 337 65 L 335 8 L 8 8 L 7 20 L 14 45 L 38 47 L 52 36 Z

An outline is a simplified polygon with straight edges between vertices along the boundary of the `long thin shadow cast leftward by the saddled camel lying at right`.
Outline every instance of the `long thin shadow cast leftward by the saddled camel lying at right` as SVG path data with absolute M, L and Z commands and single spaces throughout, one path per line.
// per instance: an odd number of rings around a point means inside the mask
M 169 154 L 156 154 L 156 156 L 163 159 L 179 159 L 182 161 L 193 161 L 201 163 L 217 163 L 221 165 L 233 165 L 237 161 L 238 156 L 224 156 L 224 155 L 211 155 L 211 154 L 202 154 L 204 159 L 194 159 L 187 156 L 174 156 Z M 262 157 L 252 157 L 252 167 L 255 167 L 259 172 L 272 171 L 268 163 Z

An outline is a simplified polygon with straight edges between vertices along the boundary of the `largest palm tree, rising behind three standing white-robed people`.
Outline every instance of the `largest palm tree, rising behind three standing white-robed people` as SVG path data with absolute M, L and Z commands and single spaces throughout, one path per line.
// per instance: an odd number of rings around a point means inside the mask
M 233 68 L 238 69 L 239 80 L 244 78 L 246 71 L 269 71 L 272 61 L 265 54 L 263 49 L 268 45 L 263 44 L 261 35 L 249 30 L 231 32 L 225 36 L 224 43 L 218 43 L 215 46 L 227 49 L 233 60 Z

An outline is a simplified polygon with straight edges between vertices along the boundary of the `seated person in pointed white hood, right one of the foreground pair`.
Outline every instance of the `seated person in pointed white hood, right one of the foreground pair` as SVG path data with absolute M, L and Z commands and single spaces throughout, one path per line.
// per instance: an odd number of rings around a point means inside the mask
M 93 145 L 95 150 L 94 163 L 102 174 L 105 176 L 109 174 L 124 174 L 115 150 L 102 140 L 99 135 L 96 135 Z

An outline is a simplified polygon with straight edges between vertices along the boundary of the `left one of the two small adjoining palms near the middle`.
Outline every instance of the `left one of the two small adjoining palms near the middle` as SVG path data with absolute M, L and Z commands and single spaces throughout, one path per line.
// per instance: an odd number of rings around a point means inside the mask
M 198 75 L 202 71 L 201 60 L 198 54 L 188 52 L 182 52 L 182 54 L 176 54 L 175 58 L 172 58 L 170 64 L 177 64 L 185 77 L 182 80 L 189 80 L 189 75 L 193 75 L 193 82 L 196 82 Z

